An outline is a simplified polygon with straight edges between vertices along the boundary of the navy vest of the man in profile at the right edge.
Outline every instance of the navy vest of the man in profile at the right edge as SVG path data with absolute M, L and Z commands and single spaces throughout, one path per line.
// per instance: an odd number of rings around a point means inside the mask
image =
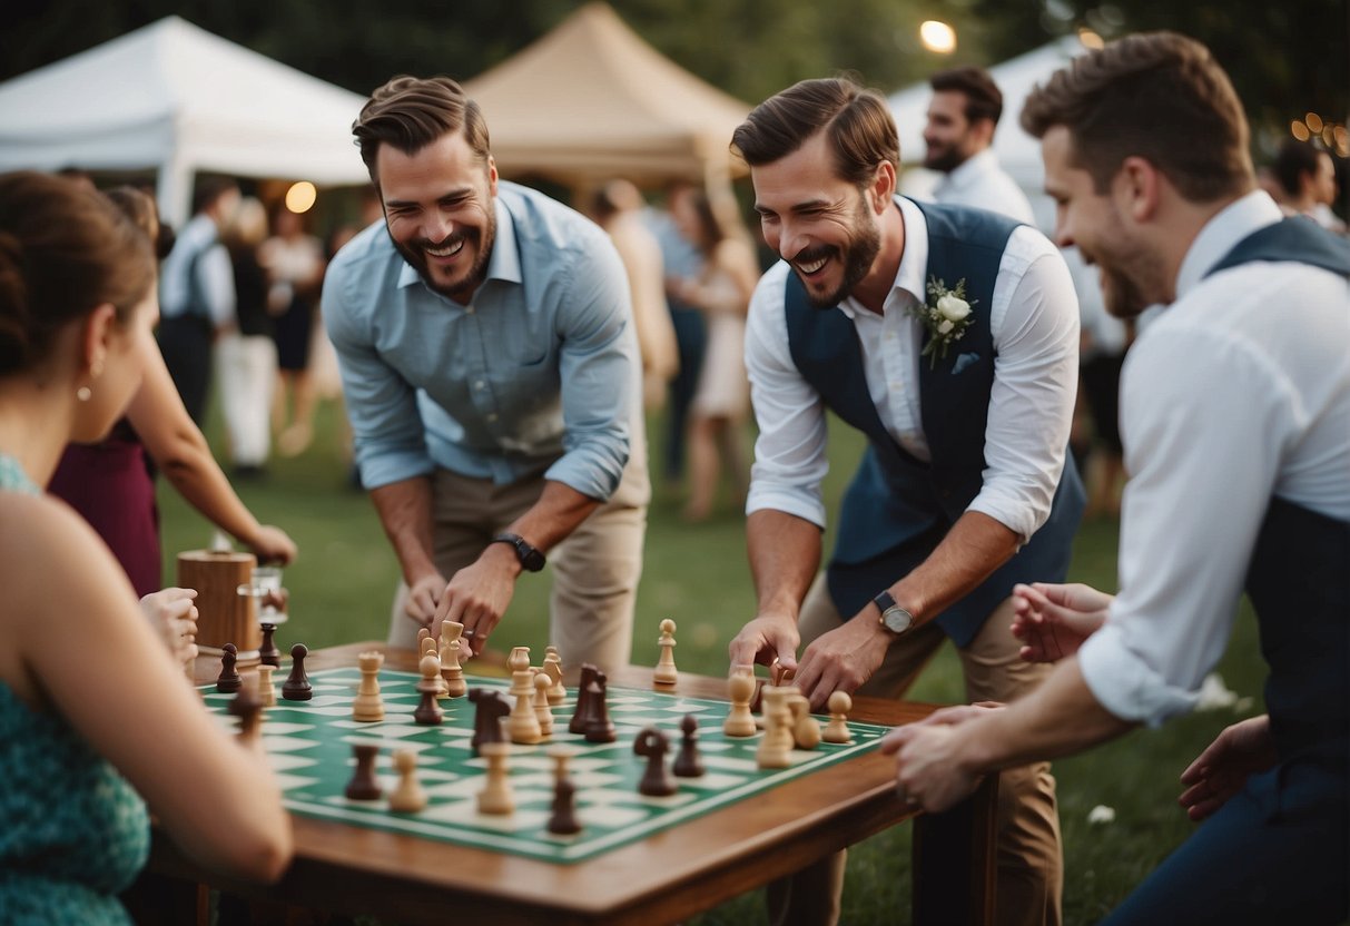
M 1243 239 L 1210 273 L 1253 261 L 1293 261 L 1350 278 L 1350 242 L 1303 217 Z M 1247 566 L 1265 701 L 1282 761 L 1341 768 L 1350 740 L 1350 522 L 1272 498 Z M 1330 825 L 1330 823 L 1328 823 Z

